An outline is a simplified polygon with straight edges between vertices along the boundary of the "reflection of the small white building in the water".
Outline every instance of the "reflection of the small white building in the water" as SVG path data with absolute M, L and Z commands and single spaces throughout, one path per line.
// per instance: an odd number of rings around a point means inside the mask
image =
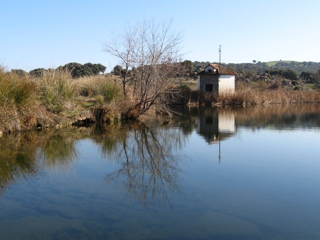
M 209 143 L 235 134 L 235 114 L 229 111 L 207 111 L 198 116 L 198 133 Z

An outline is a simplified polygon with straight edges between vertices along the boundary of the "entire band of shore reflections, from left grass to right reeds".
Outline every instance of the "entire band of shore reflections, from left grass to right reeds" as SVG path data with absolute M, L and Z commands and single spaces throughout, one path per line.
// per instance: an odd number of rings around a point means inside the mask
M 96 125 L 3 136 L 0 138 L 0 194 L 18 180 L 34 177 L 47 167 L 67 172 L 78 159 L 78 141 L 90 138 L 103 159 L 121 166 L 106 176 L 108 184 L 124 188 L 128 196 L 144 204 L 169 203 L 168 192 L 180 192 L 181 157 L 175 151 L 184 146 L 192 132 L 209 144 L 220 144 L 236 135 L 239 127 L 283 131 L 314 130 L 320 126 L 319 104 L 183 106 L 178 110 L 181 115 L 177 118 L 156 117 L 146 124 Z

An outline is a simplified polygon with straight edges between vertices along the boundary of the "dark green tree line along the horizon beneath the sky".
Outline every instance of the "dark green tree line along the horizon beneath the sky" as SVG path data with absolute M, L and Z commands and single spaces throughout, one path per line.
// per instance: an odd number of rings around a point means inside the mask
M 253 60 L 253 63 L 221 63 L 221 66 L 228 68 L 237 74 L 248 75 L 248 74 L 258 74 L 268 73 L 269 75 L 280 75 L 288 79 L 297 80 L 297 79 L 309 79 L 310 76 L 315 76 L 319 74 L 320 62 L 312 61 L 291 61 L 284 62 L 279 61 L 273 66 L 268 66 L 266 62 Z M 184 60 L 180 62 L 184 67 L 183 77 L 196 77 L 196 74 L 203 71 L 204 68 L 210 63 L 219 64 L 218 62 L 209 62 L 209 61 L 191 61 Z M 74 78 L 83 77 L 83 76 L 93 76 L 101 73 L 105 73 L 106 67 L 102 64 L 92 64 L 90 62 L 85 64 L 80 64 L 77 62 L 67 63 L 64 66 L 59 66 L 56 69 L 68 70 L 71 72 L 71 76 Z M 43 76 L 44 72 L 50 70 L 45 68 L 36 68 L 28 73 L 35 77 Z M 135 68 L 128 70 L 128 74 L 132 74 Z M 15 72 L 19 75 L 24 75 L 27 72 L 22 69 L 11 69 L 12 72 Z M 110 72 L 114 75 L 123 75 L 124 69 L 120 65 L 116 65 L 113 70 Z

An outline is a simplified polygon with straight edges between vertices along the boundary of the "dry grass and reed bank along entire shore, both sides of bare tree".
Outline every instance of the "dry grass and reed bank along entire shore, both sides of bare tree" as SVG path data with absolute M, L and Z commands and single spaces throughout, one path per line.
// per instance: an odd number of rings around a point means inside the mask
M 133 87 L 133 85 L 132 85 Z M 41 77 L 19 75 L 0 66 L 0 134 L 62 127 L 80 121 L 117 123 L 128 118 L 133 105 L 130 84 L 123 95 L 121 80 L 110 76 L 74 79 L 70 72 L 48 70 Z M 319 103 L 319 91 L 294 91 L 267 83 L 238 82 L 235 94 L 197 92 L 196 81 L 172 83 L 168 103 L 248 105 Z M 166 103 L 167 104 L 167 103 Z

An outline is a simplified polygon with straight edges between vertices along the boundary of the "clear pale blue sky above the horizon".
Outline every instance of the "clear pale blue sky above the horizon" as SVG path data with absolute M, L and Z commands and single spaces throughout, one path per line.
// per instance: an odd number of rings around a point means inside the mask
M 116 60 L 102 52 L 112 29 L 173 19 L 185 60 L 320 62 L 320 1 L 2 1 L 0 63 L 30 71 Z

